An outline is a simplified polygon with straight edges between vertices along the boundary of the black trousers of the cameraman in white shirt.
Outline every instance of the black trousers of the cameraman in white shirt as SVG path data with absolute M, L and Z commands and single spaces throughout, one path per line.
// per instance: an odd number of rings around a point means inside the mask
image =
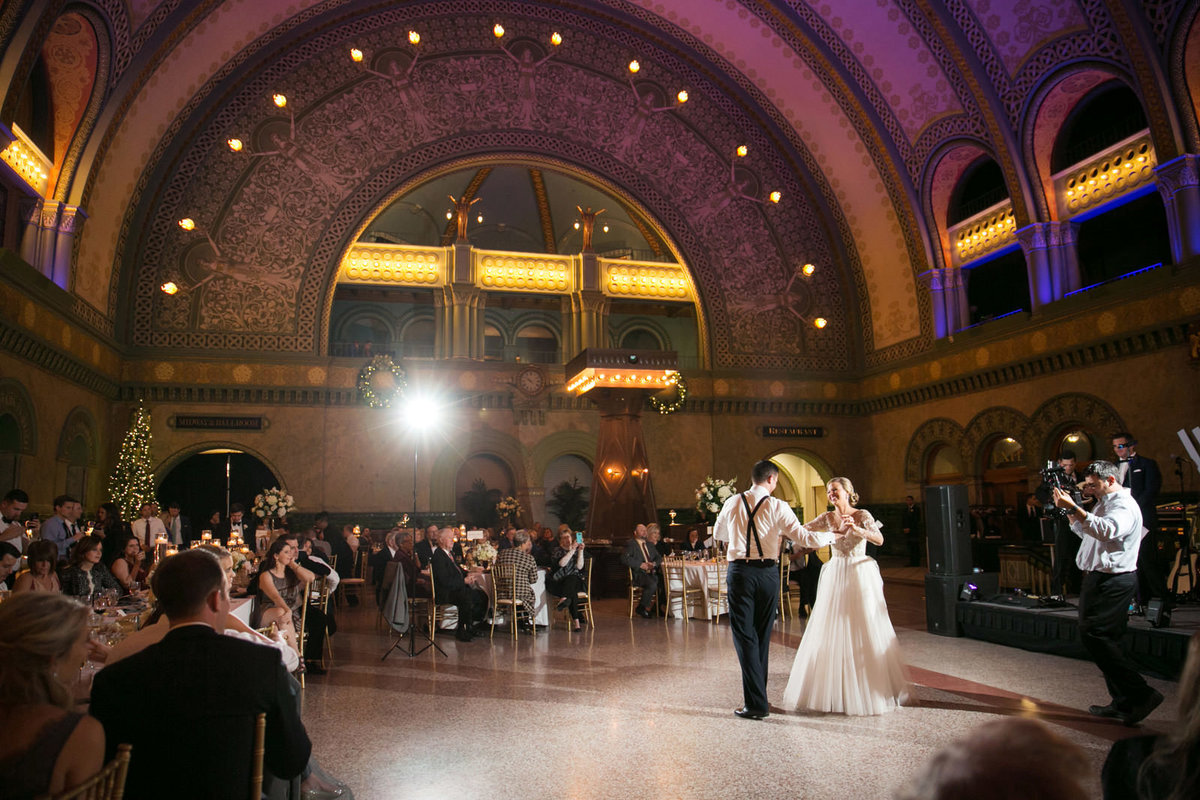
M 1153 691 L 1121 646 L 1129 626 L 1129 601 L 1136 588 L 1138 576 L 1133 572 L 1086 572 L 1079 594 L 1080 642 L 1104 673 L 1109 694 L 1122 711 Z

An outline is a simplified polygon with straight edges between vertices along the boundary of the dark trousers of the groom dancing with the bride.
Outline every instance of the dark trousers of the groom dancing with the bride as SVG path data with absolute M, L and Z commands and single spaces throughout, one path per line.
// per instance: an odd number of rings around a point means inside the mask
M 751 711 L 767 711 L 767 656 L 779 609 L 779 566 L 730 561 L 730 627 L 742 666 L 742 697 Z

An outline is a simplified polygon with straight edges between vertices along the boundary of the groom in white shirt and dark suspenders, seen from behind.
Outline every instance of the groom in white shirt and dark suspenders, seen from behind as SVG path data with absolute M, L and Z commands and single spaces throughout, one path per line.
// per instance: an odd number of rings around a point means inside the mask
M 770 497 L 779 483 L 779 468 L 769 461 L 754 465 L 754 486 L 734 494 L 716 517 L 714 535 L 728 542 L 730 626 L 733 648 L 742 666 L 743 720 L 762 720 L 768 714 L 767 655 L 770 628 L 779 607 L 779 557 L 782 537 L 802 548 L 816 549 L 834 534 L 815 534 L 800 527 L 787 504 Z

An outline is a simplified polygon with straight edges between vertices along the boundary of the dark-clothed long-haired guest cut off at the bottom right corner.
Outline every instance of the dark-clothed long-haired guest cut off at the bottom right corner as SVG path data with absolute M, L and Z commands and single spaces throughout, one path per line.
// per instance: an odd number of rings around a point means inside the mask
M 1200 633 L 1192 634 L 1180 674 L 1175 729 L 1114 742 L 1100 787 L 1104 800 L 1200 798 Z

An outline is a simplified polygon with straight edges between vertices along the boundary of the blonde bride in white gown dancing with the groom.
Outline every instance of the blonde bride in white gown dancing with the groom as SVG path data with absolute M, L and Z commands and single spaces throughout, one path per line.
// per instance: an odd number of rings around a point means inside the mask
M 784 708 L 874 715 L 908 699 L 900 643 L 883 601 L 883 579 L 866 542 L 882 545 L 881 525 L 869 511 L 856 509 L 858 495 L 846 477 L 826 486 L 834 510 L 804 527 L 844 534 L 832 546 L 833 558 L 821 567 L 812 606 Z

